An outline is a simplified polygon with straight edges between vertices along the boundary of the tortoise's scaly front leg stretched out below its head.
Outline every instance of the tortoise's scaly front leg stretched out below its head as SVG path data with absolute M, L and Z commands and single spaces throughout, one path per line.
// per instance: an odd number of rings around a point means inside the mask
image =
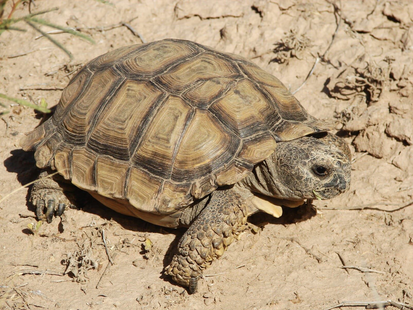
M 202 270 L 223 255 L 227 246 L 245 229 L 247 206 L 232 189 L 216 190 L 180 238 L 178 251 L 165 274 L 195 293 Z

